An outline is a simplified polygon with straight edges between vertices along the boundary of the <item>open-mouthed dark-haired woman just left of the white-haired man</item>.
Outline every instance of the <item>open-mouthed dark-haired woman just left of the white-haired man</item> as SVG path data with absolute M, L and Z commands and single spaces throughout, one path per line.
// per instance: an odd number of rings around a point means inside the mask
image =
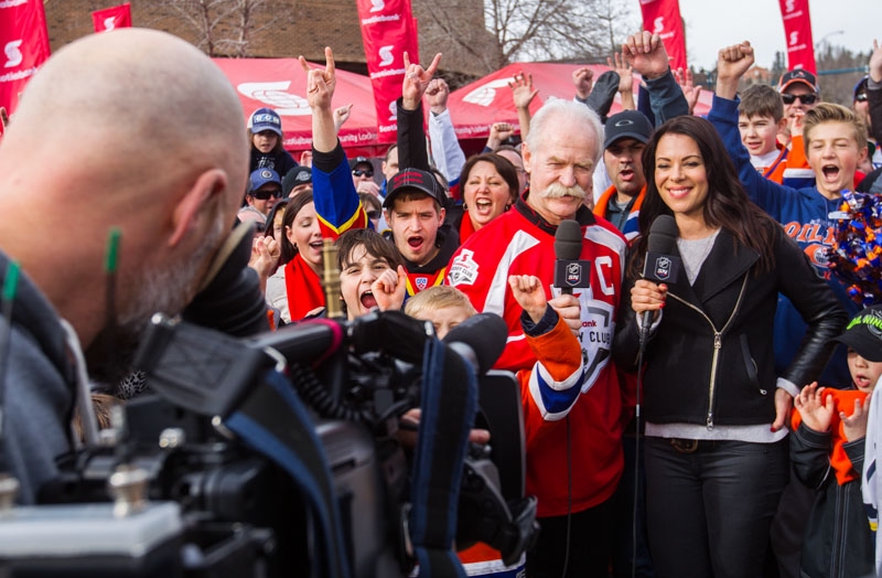
M 462 168 L 459 182 L 463 199 L 463 214 L 458 227 L 460 244 L 508 211 L 520 190 L 515 165 L 492 152 L 470 158 Z

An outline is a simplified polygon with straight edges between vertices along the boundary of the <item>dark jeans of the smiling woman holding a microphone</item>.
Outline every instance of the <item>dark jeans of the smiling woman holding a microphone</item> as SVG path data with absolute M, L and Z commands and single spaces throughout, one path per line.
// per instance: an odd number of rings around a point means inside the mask
M 787 440 L 702 441 L 684 453 L 646 438 L 649 549 L 659 578 L 763 575 L 768 531 L 787 483 Z

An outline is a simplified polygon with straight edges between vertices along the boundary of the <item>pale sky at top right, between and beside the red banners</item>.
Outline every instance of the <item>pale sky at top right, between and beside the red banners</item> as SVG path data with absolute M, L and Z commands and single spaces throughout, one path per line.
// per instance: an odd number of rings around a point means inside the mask
M 743 40 L 751 41 L 760 66 L 771 67 L 775 52 L 785 52 L 778 0 L 679 2 L 689 64 L 696 68 L 712 69 L 721 47 Z M 867 53 L 874 38 L 882 42 L 882 0 L 809 0 L 809 12 L 816 46 L 828 42 Z

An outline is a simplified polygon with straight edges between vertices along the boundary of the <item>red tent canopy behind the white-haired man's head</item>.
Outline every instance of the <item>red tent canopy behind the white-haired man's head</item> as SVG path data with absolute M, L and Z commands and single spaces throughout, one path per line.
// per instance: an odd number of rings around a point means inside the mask
M 496 71 L 480 81 L 454 90 L 448 100 L 450 117 L 456 130 L 456 137 L 463 139 L 486 139 L 490 127 L 494 122 L 510 122 L 517 126 L 517 110 L 512 104 L 512 92 L 508 83 L 515 74 L 520 72 L 533 75 L 534 88 L 539 94 L 530 105 L 530 113 L 535 114 L 548 97 L 566 98 L 571 100 L 576 94 L 572 84 L 572 73 L 582 64 L 550 64 L 550 63 L 515 63 Z M 609 71 L 609 66 L 592 64 L 594 78 Z M 635 77 L 634 93 L 636 100 L 638 78 Z M 712 94 L 702 90 L 696 115 L 707 115 L 710 110 Z M 615 96 L 611 114 L 622 109 L 621 96 Z

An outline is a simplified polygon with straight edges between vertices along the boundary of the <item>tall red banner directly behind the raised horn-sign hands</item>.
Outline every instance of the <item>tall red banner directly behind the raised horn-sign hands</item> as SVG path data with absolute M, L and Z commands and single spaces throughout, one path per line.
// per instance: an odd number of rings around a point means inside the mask
M 367 72 L 374 88 L 380 142 L 396 140 L 396 106 L 405 78 L 405 52 L 419 62 L 410 0 L 356 0 Z

